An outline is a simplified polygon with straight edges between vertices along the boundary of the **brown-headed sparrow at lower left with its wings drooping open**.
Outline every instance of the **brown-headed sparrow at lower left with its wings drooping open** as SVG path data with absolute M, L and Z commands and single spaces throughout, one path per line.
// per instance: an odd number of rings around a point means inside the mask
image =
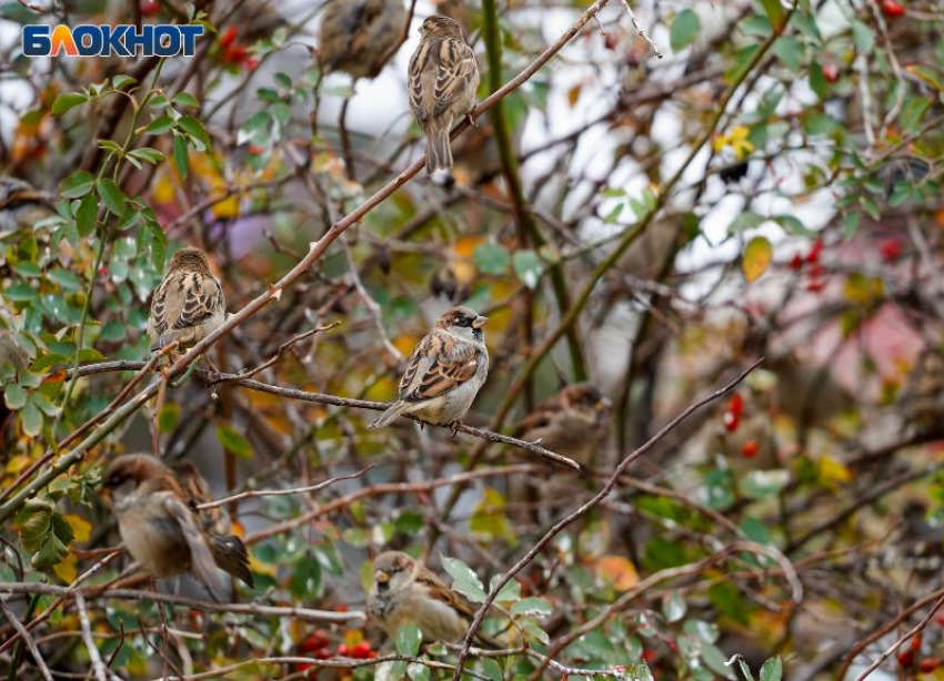
M 198 516 L 180 480 L 155 457 L 118 457 L 103 486 L 111 492 L 124 548 L 148 572 L 157 578 L 190 572 L 214 598 L 223 591 L 218 567 L 252 586 L 240 538 L 204 529 L 207 520 Z

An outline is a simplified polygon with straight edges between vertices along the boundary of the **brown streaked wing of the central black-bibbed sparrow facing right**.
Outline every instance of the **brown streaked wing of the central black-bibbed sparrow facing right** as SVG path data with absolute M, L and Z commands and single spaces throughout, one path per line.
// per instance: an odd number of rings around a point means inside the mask
M 434 331 L 413 354 L 400 380 L 400 399 L 423 402 L 455 389 L 475 375 L 480 353 L 471 343 L 462 343 Z

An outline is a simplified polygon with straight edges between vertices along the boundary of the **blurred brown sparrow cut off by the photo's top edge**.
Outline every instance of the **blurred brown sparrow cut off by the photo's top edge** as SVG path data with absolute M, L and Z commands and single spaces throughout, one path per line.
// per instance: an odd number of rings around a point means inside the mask
M 330 0 L 321 18 L 324 70 L 376 78 L 406 23 L 401 0 Z

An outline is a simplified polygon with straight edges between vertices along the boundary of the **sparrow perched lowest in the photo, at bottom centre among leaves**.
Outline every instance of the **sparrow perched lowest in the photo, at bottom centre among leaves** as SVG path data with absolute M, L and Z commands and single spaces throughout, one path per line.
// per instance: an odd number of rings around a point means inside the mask
M 462 596 L 413 557 L 385 551 L 373 561 L 374 582 L 368 593 L 368 613 L 394 638 L 404 624 L 414 624 L 425 641 L 459 641 L 465 637 L 474 611 Z M 500 648 L 492 639 L 481 641 Z

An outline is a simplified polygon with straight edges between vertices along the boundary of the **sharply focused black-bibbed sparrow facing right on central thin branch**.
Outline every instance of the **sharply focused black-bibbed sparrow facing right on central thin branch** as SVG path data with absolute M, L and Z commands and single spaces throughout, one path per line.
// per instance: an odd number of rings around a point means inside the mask
M 400 398 L 370 427 L 386 426 L 401 414 L 430 424 L 458 424 L 489 375 L 482 331 L 488 321 L 468 307 L 443 313 L 410 355 Z

